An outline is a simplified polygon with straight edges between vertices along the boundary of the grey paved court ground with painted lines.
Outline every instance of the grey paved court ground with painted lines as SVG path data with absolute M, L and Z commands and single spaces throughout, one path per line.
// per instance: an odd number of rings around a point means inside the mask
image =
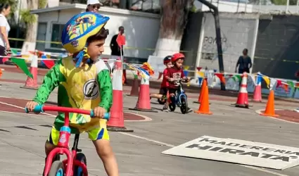
M 3 71 L 0 80 L 0 176 L 42 175 L 44 168 L 44 142 L 53 124 L 53 113 L 34 115 L 23 113 L 28 99 L 36 93 L 33 89 L 21 89 L 26 80 L 23 73 Z M 42 75 L 38 77 L 42 82 Z M 219 161 L 196 158 L 166 156 L 161 152 L 193 139 L 208 135 L 231 139 L 242 139 L 284 146 L 299 146 L 298 123 L 280 118 L 258 115 L 264 110 L 266 100 L 253 103 L 250 108 L 235 108 L 231 103 L 236 97 L 210 94 L 212 115 L 189 113 L 183 115 L 177 108 L 174 112 L 160 111 L 162 106 L 151 99 L 151 106 L 158 113 L 129 111 L 136 106 L 137 97 L 127 96 L 130 87 L 124 87 L 125 127 L 134 132 L 110 132 L 110 141 L 117 158 L 120 175 L 124 176 L 214 176 L 214 175 L 298 175 L 299 167 L 286 170 L 271 170 Z M 151 89 L 158 92 L 158 89 Z M 189 107 L 198 109 L 192 103 L 198 94 L 187 92 Z M 49 96 L 49 104 L 55 104 L 56 90 Z M 299 118 L 288 113 L 298 103 L 275 101 L 275 108 L 284 110 L 284 115 Z M 277 111 L 278 112 L 278 111 Z M 79 148 L 87 156 L 89 175 L 106 175 L 101 160 L 87 134 L 82 134 Z

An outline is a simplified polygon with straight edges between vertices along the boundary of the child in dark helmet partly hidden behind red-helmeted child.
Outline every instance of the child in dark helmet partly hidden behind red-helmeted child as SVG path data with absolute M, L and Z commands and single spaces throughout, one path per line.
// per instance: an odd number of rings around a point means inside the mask
M 172 67 L 172 62 L 171 62 L 172 56 L 166 56 L 163 60 L 164 65 L 166 68 L 163 71 L 163 80 L 161 83 L 160 87 L 160 92 L 159 94 L 151 94 L 151 98 L 156 98 L 156 99 L 165 99 L 165 105 L 163 106 L 163 111 L 168 112 L 168 101 L 167 101 L 167 92 L 168 92 L 168 82 L 167 78 L 165 77 L 167 75 L 167 69 Z

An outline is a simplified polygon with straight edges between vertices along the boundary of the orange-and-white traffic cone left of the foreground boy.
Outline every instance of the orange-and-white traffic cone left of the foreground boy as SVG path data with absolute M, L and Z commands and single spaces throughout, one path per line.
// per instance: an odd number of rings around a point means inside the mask
M 31 77 L 27 77 L 27 80 L 25 82 L 24 86 L 21 86 L 20 88 L 25 88 L 25 89 L 37 89 L 37 52 L 34 52 L 34 56 L 32 56 L 32 61 L 30 65 L 30 73 L 33 76 L 33 79 Z

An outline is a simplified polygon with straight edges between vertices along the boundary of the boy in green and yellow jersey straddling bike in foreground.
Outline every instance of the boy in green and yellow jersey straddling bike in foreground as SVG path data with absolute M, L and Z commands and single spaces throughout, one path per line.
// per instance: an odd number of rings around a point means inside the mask
M 70 113 L 71 133 L 88 132 L 107 175 L 118 176 L 117 162 L 106 129 L 107 121 L 103 119 L 112 105 L 112 83 L 106 64 L 98 59 L 109 33 L 104 28 L 108 20 L 98 13 L 84 12 L 65 24 L 61 41 L 63 48 L 72 56 L 62 58 L 49 70 L 37 95 L 26 107 L 33 111 L 38 104 L 44 104 L 53 89 L 58 87 L 58 106 L 94 109 L 97 118 Z M 45 144 L 46 156 L 58 144 L 63 122 L 64 113 L 58 113 Z

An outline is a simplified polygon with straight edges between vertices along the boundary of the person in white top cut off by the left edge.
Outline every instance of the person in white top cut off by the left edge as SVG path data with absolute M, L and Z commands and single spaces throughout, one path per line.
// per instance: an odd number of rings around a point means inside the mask
M 8 41 L 8 32 L 11 30 L 11 26 L 6 19 L 9 13 L 11 13 L 11 6 L 0 4 L 0 56 L 6 56 L 7 51 L 11 50 Z

